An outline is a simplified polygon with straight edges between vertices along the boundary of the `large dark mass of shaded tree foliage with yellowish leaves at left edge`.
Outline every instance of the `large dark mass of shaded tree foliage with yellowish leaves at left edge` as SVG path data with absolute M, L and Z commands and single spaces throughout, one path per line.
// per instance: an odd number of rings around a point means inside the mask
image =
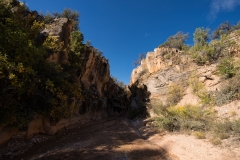
M 62 65 L 47 61 L 48 50 L 61 50 L 61 43 L 50 36 L 36 45 L 44 24 L 24 19 L 24 9 L 13 13 L 0 2 L 0 124 L 5 125 L 22 125 L 36 114 L 68 117 L 73 112 L 69 100 L 83 98 L 75 78 L 80 57 L 70 54 Z

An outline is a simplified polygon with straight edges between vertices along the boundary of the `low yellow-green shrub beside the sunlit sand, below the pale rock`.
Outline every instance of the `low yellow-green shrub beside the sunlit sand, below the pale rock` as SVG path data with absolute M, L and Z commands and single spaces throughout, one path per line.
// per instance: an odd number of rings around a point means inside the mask
M 154 124 L 160 130 L 208 130 L 214 112 L 198 106 L 173 106 L 162 108 Z

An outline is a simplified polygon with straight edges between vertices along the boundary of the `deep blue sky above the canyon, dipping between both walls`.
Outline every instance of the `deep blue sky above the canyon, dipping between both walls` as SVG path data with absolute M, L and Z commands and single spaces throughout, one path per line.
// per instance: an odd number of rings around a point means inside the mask
M 224 22 L 240 20 L 240 0 L 25 0 L 31 10 L 61 12 L 70 8 L 80 13 L 80 30 L 85 40 L 109 59 L 111 75 L 128 84 L 133 61 L 153 51 L 178 31 L 198 27 L 211 31 Z

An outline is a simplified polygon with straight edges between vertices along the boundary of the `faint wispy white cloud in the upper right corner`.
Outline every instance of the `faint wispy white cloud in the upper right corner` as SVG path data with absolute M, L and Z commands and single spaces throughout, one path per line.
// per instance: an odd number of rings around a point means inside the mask
M 222 11 L 233 11 L 240 5 L 240 0 L 212 0 L 211 2 L 211 19 L 215 19 L 217 14 Z

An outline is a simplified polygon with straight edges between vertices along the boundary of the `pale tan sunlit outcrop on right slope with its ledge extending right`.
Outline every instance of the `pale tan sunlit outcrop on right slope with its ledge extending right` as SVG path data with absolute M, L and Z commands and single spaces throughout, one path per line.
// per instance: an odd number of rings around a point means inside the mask
M 139 87 L 145 85 L 150 93 L 149 104 L 156 106 L 167 103 L 169 86 L 177 84 L 187 89 L 189 78 L 193 75 L 201 83 L 205 82 L 208 90 L 215 90 L 215 83 L 219 82 L 215 72 L 216 64 L 198 66 L 189 55 L 182 54 L 177 49 L 162 47 L 147 53 L 141 65 L 133 70 L 130 82 L 131 85 L 138 82 Z

